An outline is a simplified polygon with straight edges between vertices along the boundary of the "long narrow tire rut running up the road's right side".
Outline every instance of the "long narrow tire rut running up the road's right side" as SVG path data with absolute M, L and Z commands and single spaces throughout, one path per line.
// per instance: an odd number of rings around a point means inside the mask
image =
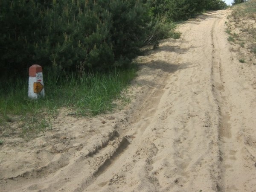
M 218 191 L 226 191 L 226 154 L 233 149 L 233 144 L 230 142 L 232 137 L 230 126 L 230 106 L 227 102 L 227 91 L 222 75 L 222 58 L 221 47 L 218 39 L 218 25 L 221 19 L 215 20 L 212 27 L 212 94 L 215 97 L 215 103 L 218 106 L 218 147 L 219 147 L 219 169 L 220 175 L 217 182 Z

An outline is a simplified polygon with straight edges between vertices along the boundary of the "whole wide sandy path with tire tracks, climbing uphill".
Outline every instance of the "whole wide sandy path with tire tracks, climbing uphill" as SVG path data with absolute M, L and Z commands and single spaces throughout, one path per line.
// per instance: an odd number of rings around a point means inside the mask
M 3 176 L 2 191 L 256 191 L 256 67 L 230 52 L 227 14 L 189 20 L 179 40 L 139 57 L 127 108 L 84 129 L 80 119 L 80 131 L 107 123 L 73 156 L 58 154 L 59 169 Z

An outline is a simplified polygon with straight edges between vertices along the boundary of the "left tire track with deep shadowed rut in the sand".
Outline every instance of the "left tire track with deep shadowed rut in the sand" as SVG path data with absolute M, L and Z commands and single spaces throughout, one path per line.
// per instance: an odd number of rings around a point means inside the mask
M 132 157 L 137 152 L 137 146 L 141 145 L 141 138 L 145 129 L 151 124 L 152 117 L 155 116 L 157 105 L 160 102 L 160 98 L 163 95 L 163 89 L 166 85 L 166 78 L 168 73 L 162 73 L 157 79 L 157 84 L 152 85 L 151 91 L 149 91 L 143 102 L 137 106 L 137 111 L 129 117 L 127 130 L 123 129 L 119 131 L 119 137 L 125 138 L 125 148 L 122 151 L 116 151 L 113 157 L 104 163 L 99 169 L 90 177 L 90 180 L 85 178 L 84 182 L 79 184 L 79 187 L 75 191 L 94 191 L 96 186 L 105 186 L 115 183 L 116 178 L 122 179 L 124 175 L 118 174 L 118 170 L 122 169 L 123 163 L 126 161 L 127 157 Z M 144 112 L 146 111 L 146 112 Z M 134 128 L 136 127 L 136 128 Z M 133 129 L 134 128 L 134 129 Z M 125 131 L 126 130 L 126 131 Z M 146 159 L 146 164 L 148 170 L 150 170 L 151 158 L 157 153 L 157 148 L 153 143 L 148 143 L 150 145 L 150 155 Z M 147 149 L 148 150 L 148 149 Z M 132 169 L 133 165 L 128 163 L 125 165 Z M 145 173 L 147 174 L 147 173 Z M 154 183 L 157 183 L 155 178 Z

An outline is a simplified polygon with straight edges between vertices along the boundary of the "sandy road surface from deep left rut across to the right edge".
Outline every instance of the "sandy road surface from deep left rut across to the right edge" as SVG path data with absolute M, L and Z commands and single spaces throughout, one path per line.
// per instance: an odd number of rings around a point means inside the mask
M 122 134 L 133 139 L 79 190 L 256 190 L 255 143 L 244 142 L 255 133 L 255 91 L 242 93 L 245 82 L 237 78 L 224 32 L 226 14 L 187 22 L 180 40 L 164 41 L 141 58 L 163 74 L 128 120 Z

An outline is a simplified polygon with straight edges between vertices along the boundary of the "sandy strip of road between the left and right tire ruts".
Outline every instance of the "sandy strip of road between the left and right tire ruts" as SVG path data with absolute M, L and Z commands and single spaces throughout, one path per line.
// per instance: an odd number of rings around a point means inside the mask
M 221 167 L 217 165 L 219 122 L 215 121 L 219 113 L 211 88 L 212 79 L 217 86 L 220 75 L 211 73 L 213 61 L 209 52 L 212 49 L 209 27 L 215 28 L 219 15 L 220 12 L 215 12 L 189 21 L 186 27 L 191 30 L 183 32 L 180 40 L 160 45 L 162 53 L 154 59 L 166 65 L 175 60 L 177 70 L 158 81 L 160 85 L 145 97 L 129 121 L 134 132 L 126 133 L 135 138 L 119 159 L 84 191 L 221 189 L 218 178 Z M 195 28 L 195 24 L 203 28 Z M 183 68 L 184 64 L 190 66 Z

